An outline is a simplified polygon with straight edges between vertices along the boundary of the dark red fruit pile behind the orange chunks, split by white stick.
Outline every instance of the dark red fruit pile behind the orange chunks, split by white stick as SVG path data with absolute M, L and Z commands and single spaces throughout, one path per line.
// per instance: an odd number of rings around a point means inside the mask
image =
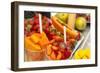
M 49 33 L 50 29 L 49 27 L 51 26 L 51 22 L 46 16 L 42 17 L 42 24 L 43 24 L 43 30 L 46 33 Z M 24 32 L 25 36 L 30 36 L 33 33 L 40 33 L 39 30 L 39 15 L 38 13 L 35 13 L 35 15 L 32 18 L 29 19 L 24 19 Z

